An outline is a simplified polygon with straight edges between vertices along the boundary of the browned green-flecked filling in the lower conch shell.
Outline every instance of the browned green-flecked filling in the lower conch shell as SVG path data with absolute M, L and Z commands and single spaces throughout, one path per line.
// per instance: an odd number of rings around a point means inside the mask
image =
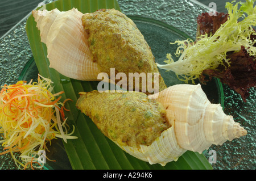
M 142 92 L 87 92 L 76 106 L 123 146 L 150 145 L 171 127 L 162 104 Z

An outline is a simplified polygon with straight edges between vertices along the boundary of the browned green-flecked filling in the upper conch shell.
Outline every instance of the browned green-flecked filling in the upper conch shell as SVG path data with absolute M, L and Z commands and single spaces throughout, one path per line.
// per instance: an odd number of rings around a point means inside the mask
M 122 12 L 101 9 L 82 16 L 88 42 L 98 68 L 115 73 L 159 73 L 155 57 L 136 24 Z M 154 76 L 153 76 L 154 77 Z M 152 80 L 152 85 L 154 80 Z M 159 91 L 166 89 L 159 73 Z

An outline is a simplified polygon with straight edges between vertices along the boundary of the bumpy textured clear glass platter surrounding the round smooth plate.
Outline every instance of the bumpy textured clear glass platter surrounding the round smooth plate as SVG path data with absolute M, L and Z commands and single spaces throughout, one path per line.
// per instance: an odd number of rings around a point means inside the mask
M 52 1 L 44 1 L 49 3 Z M 196 17 L 207 9 L 190 1 L 146 1 L 118 0 L 119 6 L 126 15 L 142 16 L 160 20 L 176 27 L 195 38 Z M 31 59 L 32 53 L 26 35 L 26 18 L 16 25 L 8 35 L 0 39 L 0 84 L 16 83 L 20 73 Z M 209 150 L 217 153 L 213 169 L 255 169 L 255 89 L 250 89 L 247 102 L 242 102 L 238 95 L 224 85 L 224 112 L 233 115 L 234 120 L 247 130 L 247 136 L 225 142 L 222 146 L 212 146 Z M 1 149 L 1 148 L 0 148 Z M 209 157 L 205 150 L 205 157 Z M 0 169 L 15 169 L 9 154 L 0 156 Z

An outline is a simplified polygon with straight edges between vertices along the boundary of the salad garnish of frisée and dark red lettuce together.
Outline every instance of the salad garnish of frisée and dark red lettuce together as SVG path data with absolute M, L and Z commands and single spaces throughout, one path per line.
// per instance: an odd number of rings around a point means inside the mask
M 195 79 L 204 81 L 204 74 L 220 78 L 246 101 L 246 89 L 256 86 L 256 33 L 252 28 L 256 26 L 254 2 L 226 3 L 228 18 L 223 24 L 218 22 L 221 25 L 215 32 L 200 33 L 195 42 L 191 39 L 175 41 L 174 44 L 179 45 L 175 53 L 180 56 L 179 59 L 174 62 L 168 53 L 167 64 L 158 64 L 158 67 L 174 71 L 184 82 L 194 83 Z M 218 21 L 218 18 L 214 21 Z M 209 30 L 209 27 L 205 30 Z

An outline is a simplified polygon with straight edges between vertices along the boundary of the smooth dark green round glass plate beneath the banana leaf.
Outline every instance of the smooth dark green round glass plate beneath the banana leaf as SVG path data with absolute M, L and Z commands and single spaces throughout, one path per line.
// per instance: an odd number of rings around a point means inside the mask
M 181 32 L 176 28 L 169 26 L 166 23 L 159 22 L 158 20 L 142 18 L 139 16 L 129 16 L 129 18 L 131 18 L 134 21 L 139 30 L 142 32 L 144 39 L 151 47 L 156 62 L 160 64 L 163 64 L 163 60 L 166 58 L 165 55 L 167 53 L 175 52 L 177 48 L 176 45 L 171 45 L 170 42 L 190 38 L 184 32 Z M 184 83 L 179 81 L 176 75 L 171 71 L 165 71 L 162 69 L 159 69 L 159 71 L 167 86 Z M 36 80 L 38 77 L 38 73 L 39 71 L 36 67 L 34 58 L 31 58 L 30 61 L 28 61 L 28 63 L 24 67 L 22 73 L 20 74 L 19 79 L 25 81 L 30 81 L 31 79 Z M 221 83 L 218 81 L 218 79 L 214 79 L 214 81 L 209 82 L 208 85 L 201 86 L 202 89 L 207 94 L 208 99 L 212 103 L 222 102 L 223 91 Z M 56 162 L 47 162 L 48 165 L 45 166 L 46 169 L 72 169 L 68 161 L 67 153 L 65 153 L 63 143 L 60 139 L 58 139 L 56 143 L 53 143 L 52 146 L 49 146 L 49 149 L 49 158 L 56 160 Z

